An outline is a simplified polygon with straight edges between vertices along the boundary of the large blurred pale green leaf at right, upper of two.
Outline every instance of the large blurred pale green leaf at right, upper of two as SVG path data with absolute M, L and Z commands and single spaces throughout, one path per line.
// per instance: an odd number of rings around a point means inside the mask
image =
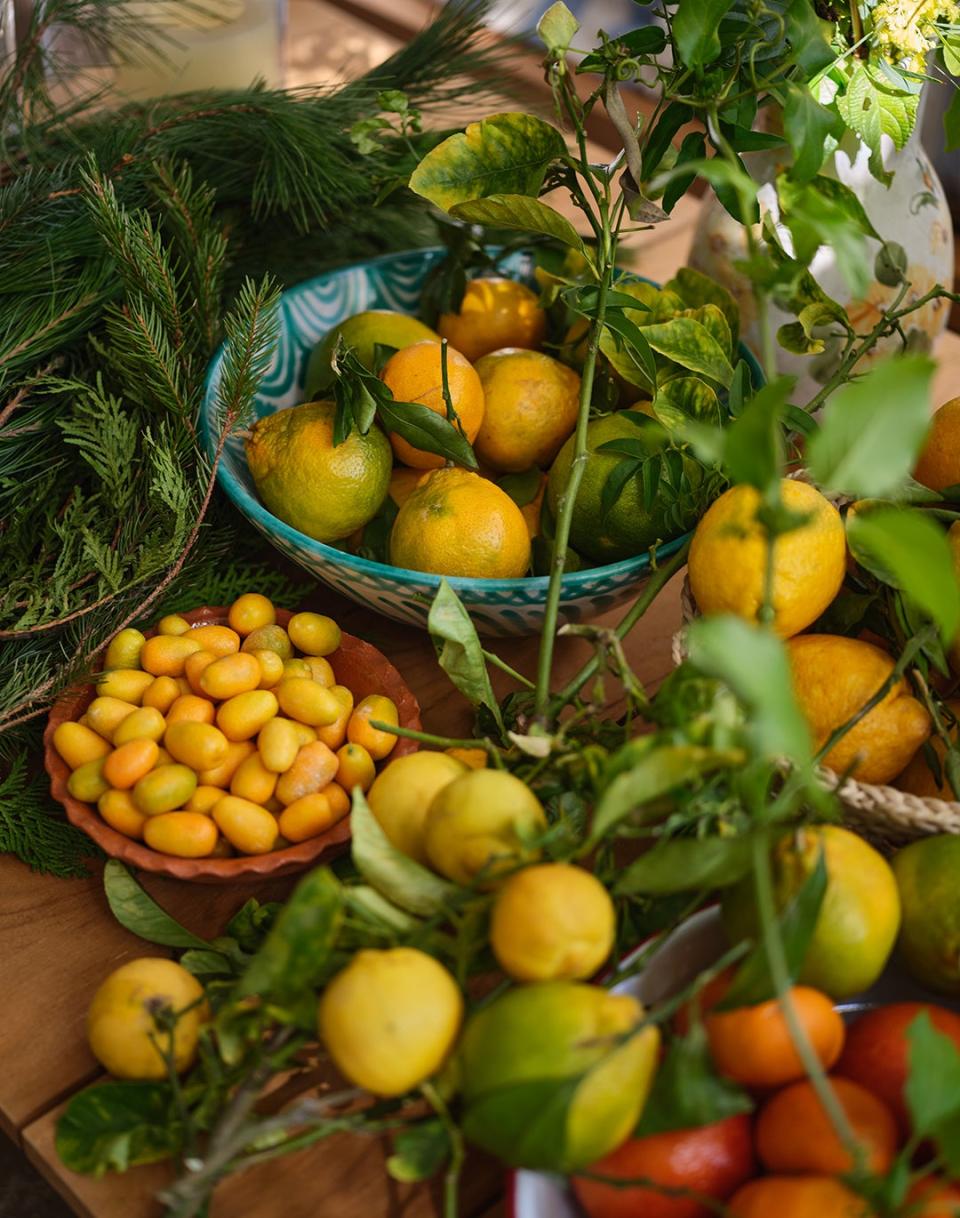
M 895 491 L 916 464 L 930 428 L 933 370 L 925 356 L 897 356 L 841 386 L 806 447 L 817 486 L 855 498 Z

